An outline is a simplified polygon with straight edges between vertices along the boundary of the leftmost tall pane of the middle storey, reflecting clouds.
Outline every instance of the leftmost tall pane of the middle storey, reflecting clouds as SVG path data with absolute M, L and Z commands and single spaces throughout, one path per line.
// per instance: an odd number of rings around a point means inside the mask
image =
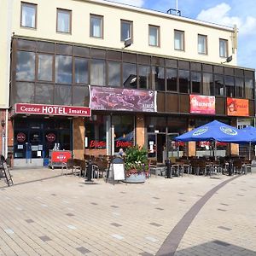
M 21 81 L 35 79 L 35 53 L 17 51 L 16 79 Z

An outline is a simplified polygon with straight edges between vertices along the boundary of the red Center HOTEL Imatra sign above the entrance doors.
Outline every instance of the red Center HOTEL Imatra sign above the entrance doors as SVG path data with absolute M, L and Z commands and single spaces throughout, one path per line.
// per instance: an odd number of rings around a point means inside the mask
M 58 106 L 58 105 L 40 105 L 40 104 L 15 104 L 15 113 L 28 114 L 48 114 L 48 115 L 67 115 L 67 116 L 90 116 L 90 108 Z

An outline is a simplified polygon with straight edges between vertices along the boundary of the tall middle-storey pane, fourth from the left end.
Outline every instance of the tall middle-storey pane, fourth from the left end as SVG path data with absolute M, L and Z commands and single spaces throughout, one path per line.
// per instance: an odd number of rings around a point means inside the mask
M 88 84 L 88 60 L 76 57 L 74 65 L 74 82 L 76 84 Z

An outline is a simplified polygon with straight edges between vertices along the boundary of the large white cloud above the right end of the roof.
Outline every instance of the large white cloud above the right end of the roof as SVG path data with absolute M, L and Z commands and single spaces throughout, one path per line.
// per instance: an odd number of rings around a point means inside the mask
M 201 13 L 197 15 L 196 19 L 206 20 L 225 26 L 236 25 L 241 35 L 254 33 L 256 30 L 256 18 L 253 16 L 247 16 L 246 18 L 230 16 L 230 9 L 231 7 L 229 4 L 220 3 L 210 9 L 203 9 Z

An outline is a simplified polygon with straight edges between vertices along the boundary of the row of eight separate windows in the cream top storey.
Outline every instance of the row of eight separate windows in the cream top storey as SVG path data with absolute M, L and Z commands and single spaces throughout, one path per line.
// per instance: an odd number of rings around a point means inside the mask
M 57 9 L 56 31 L 63 33 L 72 32 L 72 11 Z M 37 27 L 37 5 L 32 3 L 21 3 L 20 26 Z M 103 16 L 90 15 L 90 37 L 103 38 Z M 185 50 L 185 32 L 174 30 L 174 49 Z M 131 20 L 120 20 L 120 40 L 131 39 L 133 41 L 133 22 Z M 197 51 L 199 54 L 207 55 L 207 35 L 198 34 Z M 148 45 L 160 47 L 160 26 L 148 25 Z M 219 39 L 219 56 L 228 56 L 228 40 Z

